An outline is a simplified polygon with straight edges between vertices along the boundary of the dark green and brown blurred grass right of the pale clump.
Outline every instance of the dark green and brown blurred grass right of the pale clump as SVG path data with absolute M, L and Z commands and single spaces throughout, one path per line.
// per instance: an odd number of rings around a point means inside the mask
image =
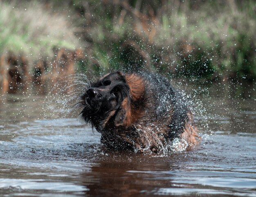
M 113 68 L 107 59 L 140 65 L 140 57 L 134 62 L 136 57 L 131 60 L 124 54 L 122 46 L 132 40 L 139 46 L 139 54 L 147 54 L 153 70 L 171 76 L 256 78 L 255 1 L 73 2 L 91 13 L 82 15 L 78 26 L 82 26 L 85 41 L 101 46 L 87 51 L 105 54 L 102 70 Z M 94 24 L 86 22 L 91 20 Z

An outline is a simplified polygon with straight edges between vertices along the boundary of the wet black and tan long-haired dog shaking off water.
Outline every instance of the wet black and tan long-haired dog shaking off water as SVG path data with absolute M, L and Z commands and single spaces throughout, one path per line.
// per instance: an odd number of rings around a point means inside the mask
M 108 149 L 159 153 L 176 139 L 200 143 L 187 103 L 159 74 L 116 71 L 85 87 L 80 116 Z

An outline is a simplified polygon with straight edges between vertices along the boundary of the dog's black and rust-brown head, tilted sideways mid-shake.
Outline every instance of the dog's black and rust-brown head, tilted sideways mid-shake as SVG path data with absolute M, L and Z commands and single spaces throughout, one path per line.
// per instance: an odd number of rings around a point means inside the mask
M 112 72 L 85 88 L 84 120 L 101 131 L 107 125 L 128 127 L 141 117 L 145 83 L 137 74 Z

